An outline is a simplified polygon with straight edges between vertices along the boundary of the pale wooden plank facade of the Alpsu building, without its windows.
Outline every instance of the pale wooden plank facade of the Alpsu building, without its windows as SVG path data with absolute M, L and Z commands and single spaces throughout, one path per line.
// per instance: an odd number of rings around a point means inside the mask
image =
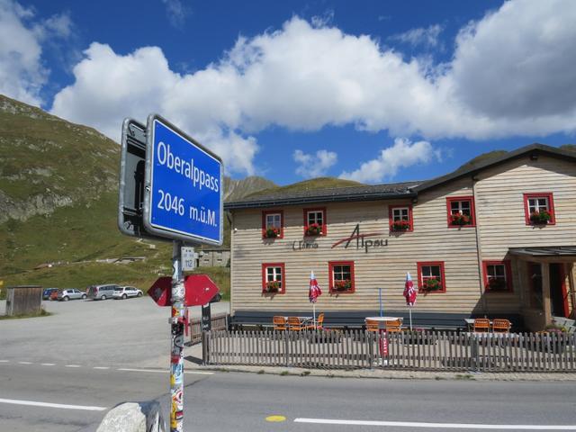
M 398 197 L 374 201 L 305 202 L 283 206 L 231 206 L 231 311 L 307 311 L 310 273 L 323 289 L 319 311 L 377 311 L 382 289 L 384 311 L 406 311 L 402 296 L 406 273 L 422 284 L 419 268 L 442 263 L 443 290 L 419 293 L 415 312 L 460 313 L 470 316 L 515 314 L 528 328 L 541 329 L 552 320 L 551 298 L 563 290 L 566 310 L 574 308 L 576 257 L 554 259 L 517 257 L 516 247 L 573 247 L 576 245 L 576 157 L 563 157 L 539 146 L 522 149 L 515 157 L 488 164 L 445 181 L 417 185 Z M 416 192 L 416 196 L 414 193 Z M 526 195 L 554 197 L 554 223 L 527 224 Z M 473 220 L 451 225 L 451 202 L 473 205 Z M 391 230 L 391 209 L 410 207 L 411 229 Z M 466 203 L 468 205 L 468 203 Z M 304 235 L 307 208 L 324 209 L 325 232 Z M 263 238 L 264 212 L 282 212 L 282 238 Z M 353 233 L 356 237 L 348 241 Z M 362 244 L 362 236 L 364 245 Z M 338 242 L 340 242 L 338 244 Z M 370 243 L 367 246 L 367 243 Z M 354 266 L 352 293 L 330 292 L 329 263 Z M 542 266 L 543 294 L 536 300 L 529 270 Z M 262 289 L 263 265 L 284 264 L 282 293 Z M 491 263 L 491 264 L 490 264 Z M 486 269 L 509 269 L 509 290 L 486 290 Z M 553 263 L 550 265 L 550 263 Z M 550 272 L 556 275 L 551 291 Z M 557 299 L 556 299 L 557 300 Z M 556 301 L 555 300 L 555 301 Z

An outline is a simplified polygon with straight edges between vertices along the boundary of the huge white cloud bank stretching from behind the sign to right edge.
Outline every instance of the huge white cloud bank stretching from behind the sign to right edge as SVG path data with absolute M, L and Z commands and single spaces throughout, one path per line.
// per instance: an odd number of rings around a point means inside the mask
M 571 0 L 505 3 L 469 23 L 455 40 L 454 59 L 443 65 L 406 61 L 369 36 L 299 17 L 238 38 L 220 61 L 187 74 L 175 73 L 157 47 L 119 55 L 93 43 L 52 112 L 114 139 L 123 117 L 159 112 L 207 137 L 230 170 L 246 173 L 257 170 L 254 134 L 273 125 L 354 124 L 427 140 L 570 133 L 575 22 Z

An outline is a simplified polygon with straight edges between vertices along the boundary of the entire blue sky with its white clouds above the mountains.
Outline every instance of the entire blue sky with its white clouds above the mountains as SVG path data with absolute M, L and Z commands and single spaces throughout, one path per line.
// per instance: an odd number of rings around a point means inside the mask
M 574 142 L 574 22 L 570 0 L 0 0 L 0 93 L 116 140 L 158 112 L 235 178 L 420 180 Z

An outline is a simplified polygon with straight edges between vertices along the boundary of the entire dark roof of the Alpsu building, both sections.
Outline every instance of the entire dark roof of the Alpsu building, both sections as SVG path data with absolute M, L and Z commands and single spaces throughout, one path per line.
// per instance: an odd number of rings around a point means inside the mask
M 558 157 L 576 162 L 576 153 L 572 151 L 566 151 L 560 148 L 554 148 L 545 146 L 544 144 L 535 143 L 530 144 L 529 146 L 518 148 L 514 151 L 510 151 L 502 157 L 494 157 L 471 167 L 459 168 L 450 174 L 441 175 L 437 178 L 433 178 L 427 181 L 372 185 L 365 184 L 360 186 L 311 189 L 306 191 L 255 194 L 253 196 L 247 196 L 240 201 L 225 202 L 224 210 L 263 208 L 321 202 L 357 202 L 387 200 L 394 198 L 416 198 L 418 193 L 428 189 L 432 189 L 441 184 L 446 184 L 465 176 L 475 175 L 482 171 L 482 169 L 486 169 L 491 166 L 498 166 L 508 162 L 509 160 L 513 160 L 519 157 L 525 157 L 527 154 L 529 154 L 530 157 L 535 158 L 538 157 L 538 155 L 543 154 L 546 156 Z

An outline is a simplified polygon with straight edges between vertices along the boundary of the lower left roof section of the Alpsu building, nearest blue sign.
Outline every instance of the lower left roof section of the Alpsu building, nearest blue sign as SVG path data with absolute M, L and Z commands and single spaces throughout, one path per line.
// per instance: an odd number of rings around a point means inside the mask
M 416 196 L 411 188 L 421 182 L 405 182 L 392 184 L 364 184 L 327 189 L 311 189 L 306 191 L 272 192 L 247 196 L 241 201 L 225 202 L 225 210 L 248 209 L 259 207 L 274 207 L 279 205 L 297 205 L 317 202 L 338 201 L 374 201 L 390 198 L 410 198 Z

